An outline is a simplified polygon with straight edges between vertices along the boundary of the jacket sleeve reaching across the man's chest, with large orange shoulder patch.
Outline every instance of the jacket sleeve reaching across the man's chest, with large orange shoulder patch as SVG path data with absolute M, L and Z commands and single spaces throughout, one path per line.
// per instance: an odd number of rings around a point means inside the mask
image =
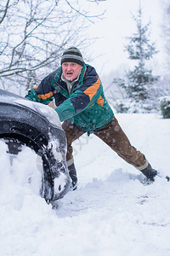
M 77 90 L 73 90 L 71 96 L 65 102 L 55 108 L 61 121 L 70 119 L 77 113 L 90 108 L 99 99 L 103 88 L 94 67 L 87 67 L 82 83 L 82 86 Z

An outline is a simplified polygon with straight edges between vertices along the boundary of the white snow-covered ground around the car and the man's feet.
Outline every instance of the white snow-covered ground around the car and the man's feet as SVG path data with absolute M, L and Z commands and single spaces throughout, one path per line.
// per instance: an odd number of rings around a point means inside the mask
M 170 119 L 116 118 L 161 176 L 170 175 Z M 170 255 L 170 183 L 156 177 L 144 186 L 97 137 L 83 136 L 74 148 L 78 189 L 52 209 L 38 195 L 37 155 L 23 148 L 11 160 L 0 141 L 0 256 Z

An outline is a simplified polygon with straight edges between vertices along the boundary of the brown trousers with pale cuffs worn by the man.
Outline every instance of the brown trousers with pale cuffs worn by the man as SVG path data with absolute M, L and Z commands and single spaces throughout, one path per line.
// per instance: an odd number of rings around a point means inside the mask
M 81 137 L 83 131 L 77 125 L 70 124 L 67 121 L 63 123 L 62 128 L 65 130 L 67 138 L 66 160 L 68 166 L 70 166 L 73 163 L 71 143 L 77 140 L 78 137 Z M 94 135 L 111 147 L 123 160 L 126 160 L 127 163 L 135 166 L 140 171 L 148 166 L 148 161 L 145 159 L 144 154 L 131 145 L 115 117 L 108 125 L 105 125 L 99 131 L 95 131 Z

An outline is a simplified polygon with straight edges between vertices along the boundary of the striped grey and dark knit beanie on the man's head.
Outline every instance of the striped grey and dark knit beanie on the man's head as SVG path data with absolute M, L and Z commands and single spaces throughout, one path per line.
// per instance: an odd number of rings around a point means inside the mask
M 61 65 L 64 62 L 74 62 L 81 66 L 83 66 L 82 53 L 76 47 L 71 47 L 69 49 L 65 49 L 62 57 L 61 57 Z

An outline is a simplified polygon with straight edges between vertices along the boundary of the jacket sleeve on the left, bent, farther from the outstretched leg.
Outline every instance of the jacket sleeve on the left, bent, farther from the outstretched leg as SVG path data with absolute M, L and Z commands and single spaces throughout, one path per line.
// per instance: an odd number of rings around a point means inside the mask
M 51 102 L 54 99 L 54 89 L 51 86 L 51 82 L 55 73 L 50 73 L 46 78 L 42 79 L 39 85 L 29 90 L 26 98 L 32 102 L 40 102 L 46 105 Z

